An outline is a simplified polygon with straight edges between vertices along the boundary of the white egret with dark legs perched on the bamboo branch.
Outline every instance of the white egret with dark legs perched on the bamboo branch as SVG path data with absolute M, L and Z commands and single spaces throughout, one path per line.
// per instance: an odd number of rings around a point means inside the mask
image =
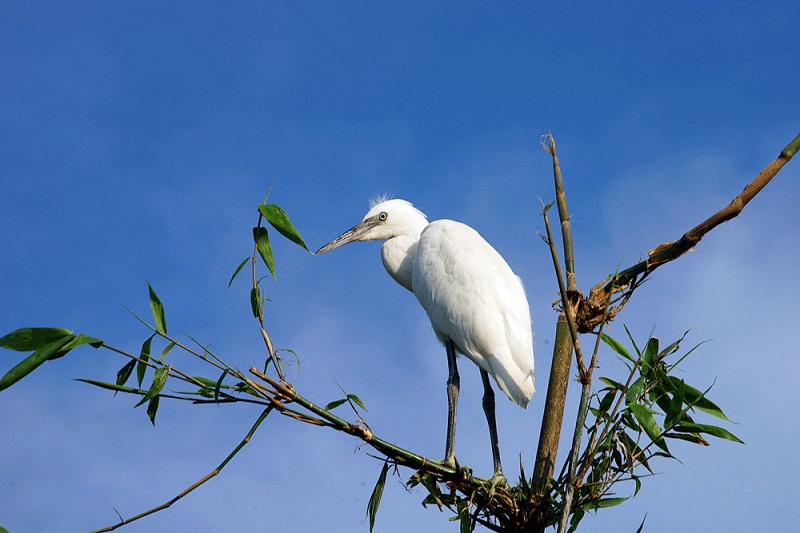
M 447 351 L 447 441 L 444 462 L 455 466 L 459 377 L 456 353 L 478 365 L 483 410 L 489 424 L 494 479 L 503 478 L 497 444 L 491 374 L 508 397 L 525 408 L 533 396 L 533 334 L 520 279 L 477 231 L 436 220 L 405 200 L 373 205 L 364 219 L 316 255 L 355 241 L 385 241 L 383 266 L 414 293 Z

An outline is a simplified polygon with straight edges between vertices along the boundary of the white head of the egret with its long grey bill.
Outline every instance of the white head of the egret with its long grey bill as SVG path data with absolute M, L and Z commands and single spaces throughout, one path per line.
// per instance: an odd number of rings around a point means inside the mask
M 419 237 L 428 219 L 410 202 L 385 200 L 373 205 L 364 219 L 331 242 L 317 250 L 324 254 L 334 248 L 355 241 L 385 241 L 398 235 Z

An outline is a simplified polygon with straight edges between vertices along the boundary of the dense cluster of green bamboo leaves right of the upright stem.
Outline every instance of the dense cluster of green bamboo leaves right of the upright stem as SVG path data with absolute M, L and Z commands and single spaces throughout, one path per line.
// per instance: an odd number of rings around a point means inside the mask
M 694 420 L 704 412 L 729 421 L 725 413 L 705 392 L 692 387 L 671 373 L 687 354 L 677 362 L 669 358 L 680 349 L 686 335 L 661 348 L 656 337 L 650 337 L 640 349 L 626 328 L 635 355 L 622 343 L 602 334 L 603 342 L 620 356 L 628 368 L 624 383 L 602 377 L 604 385 L 590 404 L 594 417 L 587 421 L 588 442 L 578 464 L 576 497 L 572 507 L 570 531 L 575 530 L 587 511 L 619 505 L 641 488 L 641 469 L 652 474 L 655 457 L 675 458 L 669 441 L 684 441 L 708 446 L 707 436 L 742 442 L 730 431 Z M 695 347 L 696 348 L 696 347 Z M 631 496 L 614 495 L 619 482 L 633 482 Z M 554 490 L 563 492 L 564 480 L 554 480 Z M 557 516 L 560 503 L 553 514 Z M 644 521 L 642 522 L 642 526 Z

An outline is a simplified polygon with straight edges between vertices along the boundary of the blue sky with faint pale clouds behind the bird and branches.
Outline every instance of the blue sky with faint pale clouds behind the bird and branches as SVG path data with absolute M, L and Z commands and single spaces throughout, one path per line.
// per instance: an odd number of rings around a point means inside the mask
M 525 283 L 539 387 L 526 411 L 501 401 L 498 424 L 508 473 L 520 454 L 530 470 L 556 318 L 536 236 L 538 198 L 553 198 L 539 135 L 558 142 L 588 290 L 727 204 L 797 135 L 798 27 L 783 2 L 6 2 L 0 332 L 64 326 L 138 350 L 147 332 L 125 307 L 148 313 L 147 278 L 173 331 L 258 365 L 246 283 L 225 287 L 266 191 L 312 249 L 388 193 L 474 226 Z M 800 521 L 797 168 L 659 270 L 612 330 L 711 339 L 685 377 L 714 383 L 747 444 L 677 446 L 683 464 L 658 463 L 584 531 L 634 531 L 645 514 L 656 532 Z M 339 383 L 376 433 L 441 455 L 444 351 L 378 245 L 275 253 L 268 329 L 301 358 L 298 389 L 324 403 Z M 0 371 L 16 357 L 1 354 Z M 83 531 L 152 507 L 257 416 L 164 403 L 153 428 L 131 398 L 71 379 L 110 380 L 121 364 L 85 349 L 0 394 L 0 525 Z M 598 372 L 620 369 L 605 354 Z M 461 374 L 458 456 L 489 475 L 480 380 L 468 361 Z M 380 463 L 357 444 L 269 419 L 220 476 L 125 531 L 367 531 Z M 376 530 L 454 531 L 423 496 L 394 478 Z

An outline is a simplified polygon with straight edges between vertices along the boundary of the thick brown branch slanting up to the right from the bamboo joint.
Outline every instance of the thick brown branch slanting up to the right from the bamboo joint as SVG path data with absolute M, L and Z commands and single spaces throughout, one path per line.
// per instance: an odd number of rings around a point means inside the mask
M 767 165 L 758 176 L 753 179 L 744 190 L 730 204 L 720 209 L 709 218 L 690 229 L 676 241 L 660 244 L 650 250 L 647 259 L 640 261 L 632 267 L 622 270 L 609 280 L 604 280 L 595 285 L 589 292 L 589 297 L 579 294 L 578 298 L 578 329 L 581 333 L 588 333 L 600 324 L 604 309 L 614 294 L 623 293 L 619 302 L 612 302 L 608 311 L 608 319 L 613 320 L 628 298 L 638 285 L 656 268 L 673 261 L 694 248 L 700 240 L 711 230 L 736 218 L 744 207 L 775 177 L 778 171 L 792 159 L 800 149 L 800 135 L 794 138 L 780 155 Z

